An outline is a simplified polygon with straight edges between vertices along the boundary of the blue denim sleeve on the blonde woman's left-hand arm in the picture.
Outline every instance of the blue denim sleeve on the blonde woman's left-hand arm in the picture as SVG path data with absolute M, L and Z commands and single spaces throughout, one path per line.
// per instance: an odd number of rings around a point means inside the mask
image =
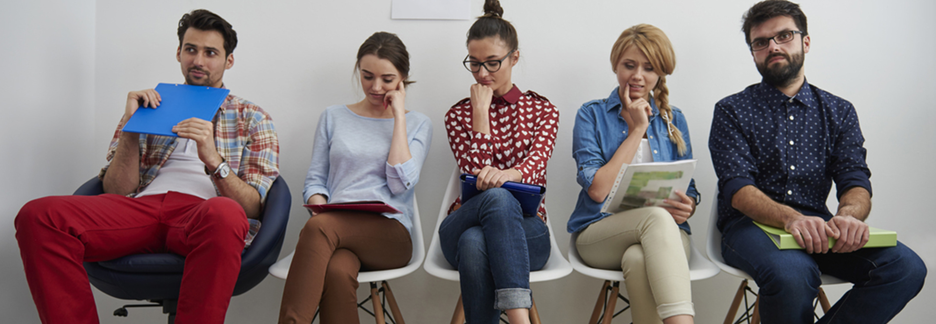
M 578 185 L 588 190 L 592 187 L 594 174 L 607 161 L 601 155 L 598 134 L 595 128 L 593 109 L 582 106 L 576 115 L 576 124 L 572 130 L 572 158 L 576 160 Z

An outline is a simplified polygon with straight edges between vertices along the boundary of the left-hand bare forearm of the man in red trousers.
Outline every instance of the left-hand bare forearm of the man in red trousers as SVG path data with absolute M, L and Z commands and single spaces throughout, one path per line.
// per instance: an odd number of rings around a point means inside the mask
M 127 195 L 139 187 L 139 134 L 123 133 L 104 174 L 104 192 Z

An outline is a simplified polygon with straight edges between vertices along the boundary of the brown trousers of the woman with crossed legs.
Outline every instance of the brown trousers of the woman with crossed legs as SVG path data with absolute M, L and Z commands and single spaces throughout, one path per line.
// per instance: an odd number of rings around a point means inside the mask
M 400 268 L 413 241 L 396 219 L 339 211 L 306 221 L 283 289 L 280 323 L 358 323 L 358 271 Z

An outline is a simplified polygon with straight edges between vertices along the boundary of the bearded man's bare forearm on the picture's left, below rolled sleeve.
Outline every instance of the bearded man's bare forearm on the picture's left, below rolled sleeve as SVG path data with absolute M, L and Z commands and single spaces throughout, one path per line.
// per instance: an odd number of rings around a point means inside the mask
M 754 186 L 745 186 L 735 192 L 731 206 L 753 220 L 778 228 L 785 228 L 787 222 L 803 216 L 788 205 L 774 202 Z

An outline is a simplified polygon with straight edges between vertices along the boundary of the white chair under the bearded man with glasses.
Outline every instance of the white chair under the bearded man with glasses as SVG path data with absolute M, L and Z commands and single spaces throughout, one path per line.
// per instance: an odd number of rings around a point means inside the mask
M 712 199 L 711 204 L 711 214 L 709 216 L 709 242 L 706 245 L 706 253 L 709 254 L 709 260 L 714 262 L 719 269 L 722 269 L 728 275 L 737 276 L 741 280 L 741 285 L 738 287 L 738 292 L 735 293 L 735 299 L 731 302 L 731 307 L 728 308 L 728 314 L 724 316 L 724 324 L 731 324 L 732 318 L 738 314 L 738 309 L 741 304 L 741 299 L 744 299 L 744 314 L 742 314 L 738 320 L 734 323 L 740 323 L 742 321 L 748 321 L 749 323 L 759 324 L 760 315 L 757 313 L 758 305 L 760 304 L 760 296 L 757 295 L 748 286 L 748 280 L 753 280 L 751 275 L 745 273 L 741 269 L 735 268 L 733 266 L 727 265 L 724 263 L 724 258 L 722 258 L 722 231 L 718 230 L 718 193 L 715 193 L 715 199 Z M 841 280 L 832 275 L 822 275 L 822 285 L 835 285 L 835 284 L 844 284 L 847 283 L 844 280 Z M 754 303 L 751 304 L 748 301 L 748 293 L 753 294 L 756 297 Z M 818 303 L 822 305 L 823 314 L 828 312 L 828 309 L 831 307 L 831 304 L 828 303 L 828 298 L 826 298 L 826 291 L 819 287 L 819 295 L 816 296 Z

